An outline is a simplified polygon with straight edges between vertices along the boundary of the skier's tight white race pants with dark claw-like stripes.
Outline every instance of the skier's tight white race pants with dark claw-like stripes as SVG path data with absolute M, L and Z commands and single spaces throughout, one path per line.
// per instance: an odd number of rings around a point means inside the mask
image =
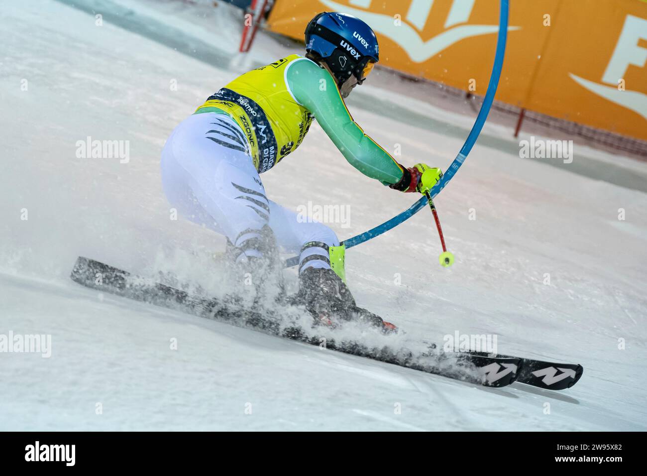
M 184 218 L 225 235 L 239 249 L 238 260 L 263 255 L 256 244 L 268 225 L 284 251 L 301 253 L 300 271 L 330 267 L 326 249 L 303 245 L 337 246 L 336 235 L 267 198 L 245 135 L 230 116 L 201 113 L 182 121 L 164 145 L 161 172 L 171 205 Z

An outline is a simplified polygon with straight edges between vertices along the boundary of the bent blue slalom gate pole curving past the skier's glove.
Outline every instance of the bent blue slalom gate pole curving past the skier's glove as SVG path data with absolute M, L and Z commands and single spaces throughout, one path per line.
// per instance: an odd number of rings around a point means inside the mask
M 479 114 L 477 115 L 476 120 L 474 121 L 474 126 L 472 126 L 472 130 L 470 131 L 470 134 L 467 136 L 465 144 L 463 144 L 463 147 L 461 148 L 461 151 L 454 159 L 454 162 L 450 164 L 446 172 L 444 172 L 443 177 L 440 179 L 440 181 L 436 185 L 434 185 L 430 190 L 430 196 L 432 199 L 435 196 L 437 196 L 441 192 L 441 190 L 443 190 L 444 186 L 447 185 L 447 183 L 452 179 L 452 177 L 454 177 L 457 170 L 461 168 L 461 165 L 463 165 L 463 162 L 465 162 L 467 155 L 472 150 L 472 147 L 474 147 L 474 144 L 476 143 L 476 139 L 478 139 L 479 134 L 483 129 L 483 124 L 485 124 L 485 120 L 487 119 L 487 116 L 490 113 L 492 102 L 494 102 L 494 95 L 496 95 L 496 89 L 499 86 L 499 78 L 501 78 L 501 69 L 503 68 L 503 57 L 505 56 L 505 42 L 507 40 L 507 34 L 508 34 L 508 12 L 509 12 L 509 0 L 501 0 L 499 5 L 499 34 L 496 40 L 496 52 L 494 54 L 494 65 L 492 65 L 492 74 L 490 74 L 490 82 L 488 83 L 487 91 L 485 92 L 485 98 L 483 98 L 483 104 L 481 104 L 481 110 L 479 111 Z M 370 230 L 365 231 L 356 236 L 353 236 L 352 238 L 348 238 L 347 240 L 344 240 L 342 243 L 346 245 L 346 248 L 352 248 L 353 246 L 356 246 L 360 243 L 364 243 L 370 240 L 371 238 L 375 238 L 375 236 L 379 236 L 380 234 L 397 227 L 397 225 L 399 225 L 403 221 L 406 221 L 409 218 L 411 218 L 411 216 L 413 216 L 414 214 L 419 212 L 419 210 L 424 208 L 424 206 L 427 203 L 428 203 L 428 198 L 426 196 L 422 196 L 418 201 L 413 203 L 411 207 L 404 210 L 404 212 L 397 214 L 396 216 L 391 218 L 391 220 L 385 221 L 384 223 L 382 223 L 382 225 L 378 225 L 375 228 L 371 228 Z M 292 258 L 289 258 L 288 260 L 285 261 L 285 267 L 296 266 L 297 264 L 299 264 L 298 256 L 293 256 Z

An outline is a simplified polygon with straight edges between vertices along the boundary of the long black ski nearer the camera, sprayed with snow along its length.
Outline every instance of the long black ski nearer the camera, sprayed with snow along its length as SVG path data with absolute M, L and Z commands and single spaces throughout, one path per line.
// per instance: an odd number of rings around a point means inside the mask
M 312 345 L 322 343 L 320 335 L 316 335 L 316 328 L 307 330 L 299 326 L 285 326 L 278 319 L 276 312 L 259 310 L 258 308 L 252 309 L 245 306 L 243 300 L 239 297 L 206 299 L 148 278 L 131 275 L 127 271 L 122 271 L 82 256 L 77 258 L 72 269 L 71 278 L 74 282 L 87 288 L 148 302 L 156 306 L 181 310 L 239 327 L 250 327 L 267 334 L 280 335 L 281 337 Z M 521 363 L 521 359 L 517 357 L 457 355 L 436 352 L 415 355 L 405 348 L 399 350 L 393 350 L 388 346 L 377 348 L 357 341 L 326 339 L 325 346 L 345 354 L 367 357 L 488 387 L 504 387 L 512 383 L 516 378 L 518 367 Z

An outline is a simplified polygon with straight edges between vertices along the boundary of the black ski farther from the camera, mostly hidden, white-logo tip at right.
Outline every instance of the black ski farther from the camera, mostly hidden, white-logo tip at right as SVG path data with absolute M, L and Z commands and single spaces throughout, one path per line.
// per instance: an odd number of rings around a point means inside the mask
M 469 352 L 472 356 L 492 356 L 487 352 Z M 497 354 L 498 357 L 512 357 Z M 584 367 L 574 363 L 554 363 L 519 357 L 516 381 L 548 390 L 570 389 L 582 377 Z

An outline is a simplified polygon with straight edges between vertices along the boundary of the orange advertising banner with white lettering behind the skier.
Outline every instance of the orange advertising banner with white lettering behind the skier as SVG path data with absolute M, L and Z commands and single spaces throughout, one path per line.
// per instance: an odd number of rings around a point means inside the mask
M 380 64 L 485 94 L 498 0 L 277 0 L 269 28 L 303 40 L 322 11 L 366 21 Z M 496 98 L 647 141 L 647 1 L 510 1 Z

